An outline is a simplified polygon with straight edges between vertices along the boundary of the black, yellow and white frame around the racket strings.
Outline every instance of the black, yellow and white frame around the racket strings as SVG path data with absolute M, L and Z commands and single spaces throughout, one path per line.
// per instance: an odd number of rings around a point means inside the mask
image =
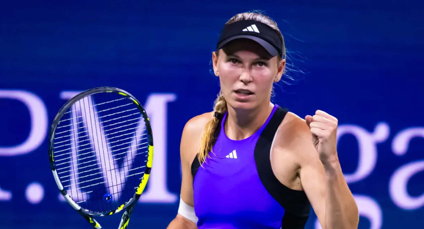
M 60 182 L 59 176 L 56 172 L 56 168 L 55 168 L 55 165 L 54 165 L 53 140 L 54 140 L 54 134 L 55 134 L 56 127 L 58 126 L 59 121 L 61 120 L 62 116 L 64 115 L 64 112 L 66 112 L 67 109 L 69 109 L 76 101 L 80 101 L 82 98 L 84 98 L 88 95 L 93 95 L 93 94 L 101 93 L 101 92 L 117 93 L 119 95 L 122 95 L 122 96 L 130 99 L 131 101 L 134 102 L 134 104 L 137 105 L 139 112 L 142 114 L 142 117 L 143 117 L 144 122 L 145 122 L 149 146 L 148 146 L 148 161 L 147 161 L 145 173 L 143 174 L 143 177 L 141 179 L 139 187 L 137 187 L 137 190 L 134 193 L 134 195 L 128 201 L 126 201 L 125 203 L 123 203 L 122 205 L 117 207 L 116 209 L 113 209 L 113 210 L 107 211 L 107 212 L 94 212 L 94 211 L 91 211 L 91 210 L 88 210 L 88 209 L 84 209 L 83 207 L 81 207 L 80 205 L 75 203 L 75 201 L 73 201 L 73 199 L 70 197 L 70 195 L 67 194 L 67 191 L 64 190 L 64 187 Z M 56 184 L 57 184 L 57 186 L 60 190 L 60 193 L 64 196 L 65 200 L 75 210 L 77 210 L 81 215 L 84 216 L 84 218 L 86 218 L 87 221 L 91 221 L 90 223 L 94 223 L 94 224 L 97 223 L 91 217 L 112 215 L 112 214 L 115 214 L 117 212 L 122 211 L 123 209 L 127 209 L 127 211 L 128 211 L 128 209 L 130 209 L 130 212 L 131 212 L 132 208 L 137 204 L 143 190 L 145 189 L 145 186 L 148 182 L 148 179 L 149 179 L 149 176 L 150 176 L 150 173 L 151 173 L 151 168 L 152 168 L 152 163 L 153 163 L 153 134 L 152 134 L 151 124 L 150 124 L 150 120 L 148 118 L 147 112 L 145 111 L 145 109 L 141 105 L 141 103 L 137 100 L 137 98 L 135 98 L 130 93 L 124 91 L 123 89 L 119 89 L 119 88 L 116 88 L 116 87 L 96 87 L 96 88 L 93 88 L 93 89 L 85 90 L 85 91 L 79 93 L 78 95 L 75 95 L 70 100 L 68 100 L 61 107 L 61 109 L 59 109 L 59 112 L 56 114 L 55 118 L 53 119 L 52 125 L 50 126 L 50 132 L 49 132 L 49 159 L 50 159 L 50 168 L 53 172 L 53 177 L 54 177 Z M 128 213 L 130 213 L 130 212 L 128 212 Z M 129 215 L 128 215 L 128 218 L 129 218 Z M 93 224 L 93 226 L 94 226 L 94 224 Z M 95 227 L 95 228 L 97 228 L 97 227 Z M 99 227 L 99 228 L 101 228 L 101 227 Z

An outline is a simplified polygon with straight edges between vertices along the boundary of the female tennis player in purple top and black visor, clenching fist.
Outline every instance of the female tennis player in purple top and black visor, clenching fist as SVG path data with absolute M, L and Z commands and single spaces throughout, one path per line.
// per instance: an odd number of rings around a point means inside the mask
M 271 103 L 285 54 L 269 17 L 243 13 L 225 24 L 212 56 L 220 93 L 213 112 L 184 127 L 181 200 L 168 229 L 303 229 L 311 206 L 323 229 L 357 228 L 338 120 L 320 110 L 302 119 Z

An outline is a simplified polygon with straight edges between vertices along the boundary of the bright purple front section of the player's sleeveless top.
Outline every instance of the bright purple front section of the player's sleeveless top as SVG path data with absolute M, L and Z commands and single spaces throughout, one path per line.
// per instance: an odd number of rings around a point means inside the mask
M 262 184 L 254 150 L 265 126 L 278 108 L 273 107 L 266 122 L 244 140 L 226 136 L 224 123 L 203 168 L 193 181 L 194 207 L 199 229 L 279 229 L 285 209 Z M 268 154 L 269 156 L 269 154 Z M 284 228 L 283 228 L 284 229 Z

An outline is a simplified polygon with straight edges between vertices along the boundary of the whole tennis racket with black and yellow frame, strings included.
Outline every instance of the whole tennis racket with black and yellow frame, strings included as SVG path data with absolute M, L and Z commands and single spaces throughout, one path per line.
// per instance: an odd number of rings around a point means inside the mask
M 49 135 L 53 177 L 64 199 L 94 228 L 94 219 L 123 212 L 128 226 L 152 168 L 153 136 L 145 109 L 134 96 L 98 87 L 71 98 Z

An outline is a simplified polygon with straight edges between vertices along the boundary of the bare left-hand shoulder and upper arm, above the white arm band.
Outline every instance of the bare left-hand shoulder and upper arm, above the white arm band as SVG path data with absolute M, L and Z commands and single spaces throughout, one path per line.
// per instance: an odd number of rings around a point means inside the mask
M 195 159 L 200 146 L 200 138 L 206 123 L 212 118 L 211 113 L 198 115 L 190 119 L 184 126 L 181 135 L 181 199 L 188 205 L 194 206 L 193 200 L 193 177 L 191 164 Z

